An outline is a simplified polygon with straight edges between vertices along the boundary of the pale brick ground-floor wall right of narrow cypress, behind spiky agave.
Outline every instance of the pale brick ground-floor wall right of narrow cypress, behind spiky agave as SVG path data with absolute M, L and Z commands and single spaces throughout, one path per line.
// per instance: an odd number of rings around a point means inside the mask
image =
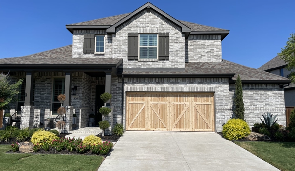
M 235 85 L 230 84 L 230 97 L 234 96 Z M 286 126 L 284 90 L 278 84 L 243 84 L 245 119 L 250 126 L 261 123 L 258 117 L 271 112 L 278 115 L 277 123 Z

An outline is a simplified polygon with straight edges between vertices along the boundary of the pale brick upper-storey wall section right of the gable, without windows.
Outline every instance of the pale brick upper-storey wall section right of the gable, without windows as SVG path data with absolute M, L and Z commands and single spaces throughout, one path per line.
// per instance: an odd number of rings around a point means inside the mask
M 189 35 L 188 62 L 221 61 L 221 35 Z

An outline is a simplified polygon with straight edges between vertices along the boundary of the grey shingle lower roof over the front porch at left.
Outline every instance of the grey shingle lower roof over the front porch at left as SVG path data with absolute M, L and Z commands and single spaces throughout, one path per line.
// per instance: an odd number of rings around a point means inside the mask
M 3 58 L 2 64 L 117 64 L 121 58 L 72 58 L 72 45 L 33 55 Z

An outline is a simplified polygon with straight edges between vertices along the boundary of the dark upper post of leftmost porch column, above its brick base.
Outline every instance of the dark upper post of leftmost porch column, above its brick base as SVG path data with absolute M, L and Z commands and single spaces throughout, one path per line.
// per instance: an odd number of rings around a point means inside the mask
M 25 106 L 33 106 L 34 72 L 26 72 Z

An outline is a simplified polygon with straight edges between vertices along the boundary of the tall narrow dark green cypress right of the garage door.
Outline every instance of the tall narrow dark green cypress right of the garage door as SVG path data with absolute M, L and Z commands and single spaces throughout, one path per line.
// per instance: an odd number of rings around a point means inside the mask
M 244 102 L 243 102 L 243 87 L 242 87 L 242 81 L 240 78 L 240 75 L 238 75 L 238 78 L 235 81 L 235 96 L 234 96 L 234 114 L 237 119 L 243 119 L 244 120 Z

